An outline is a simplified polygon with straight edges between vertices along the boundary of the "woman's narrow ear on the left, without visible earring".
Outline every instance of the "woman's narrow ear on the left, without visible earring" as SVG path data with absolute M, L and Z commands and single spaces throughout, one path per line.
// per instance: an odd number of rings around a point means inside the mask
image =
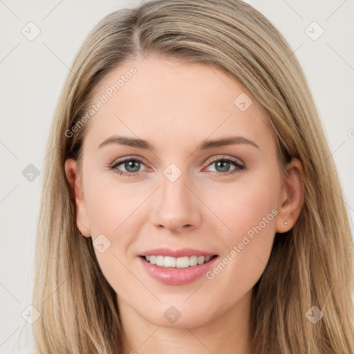
M 90 237 L 90 224 L 88 223 L 84 191 L 82 189 L 82 180 L 77 172 L 76 160 L 68 158 L 68 160 L 65 161 L 65 174 L 75 198 L 77 228 L 80 230 L 82 235 L 85 237 Z

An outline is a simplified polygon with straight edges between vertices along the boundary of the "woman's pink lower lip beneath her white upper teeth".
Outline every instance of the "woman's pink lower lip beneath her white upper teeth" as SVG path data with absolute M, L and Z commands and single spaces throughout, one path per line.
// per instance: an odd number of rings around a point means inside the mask
M 209 268 L 212 268 L 218 257 L 210 259 L 207 263 L 193 265 L 188 268 L 162 268 L 158 265 L 149 263 L 145 258 L 139 257 L 142 265 L 148 274 L 160 281 L 169 285 L 183 285 L 191 283 L 205 274 Z

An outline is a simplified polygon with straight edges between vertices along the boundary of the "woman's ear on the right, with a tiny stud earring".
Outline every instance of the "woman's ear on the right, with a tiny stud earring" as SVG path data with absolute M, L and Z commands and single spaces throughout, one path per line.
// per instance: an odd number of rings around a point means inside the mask
M 304 203 L 302 174 L 303 168 L 299 159 L 294 158 L 286 165 L 275 223 L 278 233 L 289 231 L 299 218 Z

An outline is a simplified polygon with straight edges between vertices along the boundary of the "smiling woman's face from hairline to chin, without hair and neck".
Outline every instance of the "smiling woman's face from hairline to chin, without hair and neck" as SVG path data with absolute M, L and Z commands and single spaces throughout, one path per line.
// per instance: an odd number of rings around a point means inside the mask
M 274 234 L 286 231 L 261 106 L 218 68 L 156 55 L 111 71 L 92 104 L 77 225 L 120 308 L 193 327 L 249 305 Z M 68 160 L 67 174 L 75 168 Z

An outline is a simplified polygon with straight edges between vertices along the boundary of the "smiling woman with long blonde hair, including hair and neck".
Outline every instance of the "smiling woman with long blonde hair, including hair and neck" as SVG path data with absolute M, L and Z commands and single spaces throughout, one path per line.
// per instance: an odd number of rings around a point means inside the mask
M 48 142 L 39 353 L 353 353 L 353 244 L 304 73 L 238 0 L 82 44 Z

